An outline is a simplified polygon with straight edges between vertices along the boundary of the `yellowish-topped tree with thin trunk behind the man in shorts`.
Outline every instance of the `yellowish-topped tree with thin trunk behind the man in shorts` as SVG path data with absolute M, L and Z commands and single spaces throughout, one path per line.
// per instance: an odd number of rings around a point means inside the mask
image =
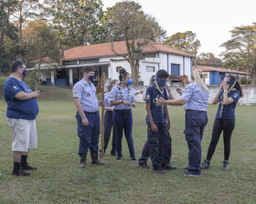
M 42 66 L 58 65 L 59 43 L 58 34 L 53 26 L 42 20 L 30 22 L 24 29 L 27 39 L 28 66 L 37 68 L 36 89 L 40 87 L 40 69 Z

